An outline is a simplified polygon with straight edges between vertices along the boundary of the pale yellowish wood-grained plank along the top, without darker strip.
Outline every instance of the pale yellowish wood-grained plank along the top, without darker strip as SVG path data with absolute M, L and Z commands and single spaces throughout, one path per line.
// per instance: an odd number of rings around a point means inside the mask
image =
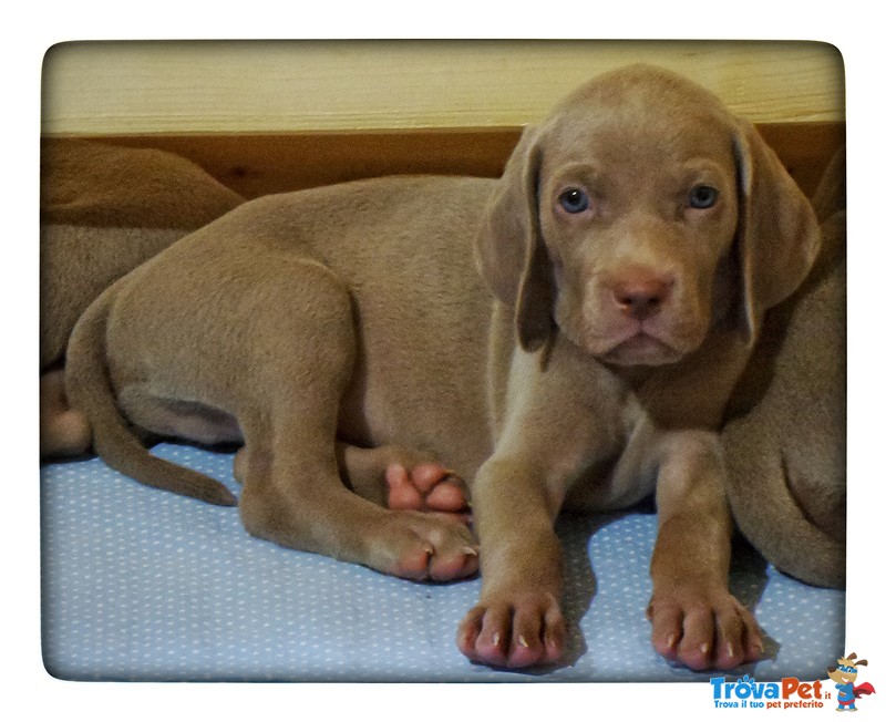
M 843 62 L 815 42 L 75 42 L 43 66 L 44 135 L 511 128 L 591 75 L 650 62 L 756 123 L 844 120 Z

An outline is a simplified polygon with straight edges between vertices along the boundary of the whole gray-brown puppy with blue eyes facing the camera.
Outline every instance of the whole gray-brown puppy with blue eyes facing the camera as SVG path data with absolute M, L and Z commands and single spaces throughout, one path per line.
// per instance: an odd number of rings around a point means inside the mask
M 269 196 L 197 230 L 90 307 L 69 395 L 111 466 L 208 502 L 235 498 L 138 436 L 243 443 L 256 536 L 409 578 L 480 566 L 457 644 L 494 666 L 564 652 L 559 510 L 655 492 L 652 643 L 730 668 L 762 642 L 727 588 L 717 430 L 817 246 L 749 124 L 631 66 L 528 130 L 499 180 Z

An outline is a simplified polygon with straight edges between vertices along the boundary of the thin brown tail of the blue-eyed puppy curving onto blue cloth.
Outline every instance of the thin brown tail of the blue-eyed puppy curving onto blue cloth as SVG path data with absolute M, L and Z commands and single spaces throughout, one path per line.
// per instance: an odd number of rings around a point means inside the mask
M 117 410 L 105 360 L 105 332 L 119 287 L 114 283 L 86 309 L 68 347 L 68 396 L 92 424 L 95 453 L 112 468 L 148 486 L 236 506 L 237 498 L 220 482 L 150 454 Z

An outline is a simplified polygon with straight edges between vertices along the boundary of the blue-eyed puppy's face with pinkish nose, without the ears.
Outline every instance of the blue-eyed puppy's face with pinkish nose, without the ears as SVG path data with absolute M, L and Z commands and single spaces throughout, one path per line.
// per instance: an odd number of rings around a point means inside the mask
M 652 90 L 581 99 L 542 141 L 554 319 L 622 365 L 679 360 L 738 296 L 733 127 L 719 107 Z

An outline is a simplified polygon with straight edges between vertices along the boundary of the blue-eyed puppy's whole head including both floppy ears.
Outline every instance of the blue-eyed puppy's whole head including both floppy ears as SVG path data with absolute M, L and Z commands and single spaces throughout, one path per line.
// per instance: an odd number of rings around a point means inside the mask
M 526 350 L 558 328 L 601 360 L 656 365 L 715 324 L 752 341 L 817 247 L 811 205 L 751 125 L 680 76 L 631 66 L 524 133 L 477 255 Z

